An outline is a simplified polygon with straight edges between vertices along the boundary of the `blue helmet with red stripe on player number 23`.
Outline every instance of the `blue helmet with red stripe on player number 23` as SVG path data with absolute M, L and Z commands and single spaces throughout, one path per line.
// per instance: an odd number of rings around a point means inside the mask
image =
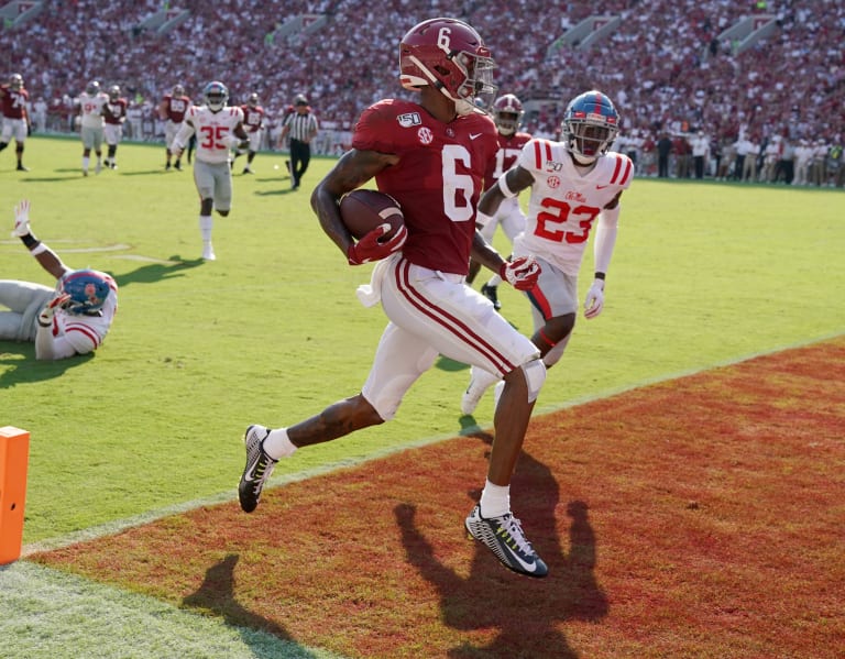
M 607 96 L 593 89 L 570 101 L 561 129 L 570 153 L 588 165 L 604 155 L 616 139 L 619 113 Z

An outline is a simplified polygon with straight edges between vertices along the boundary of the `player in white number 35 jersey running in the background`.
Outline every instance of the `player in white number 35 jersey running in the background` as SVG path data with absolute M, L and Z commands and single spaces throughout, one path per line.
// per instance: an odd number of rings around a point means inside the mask
M 232 205 L 232 171 L 230 150 L 249 149 L 249 135 L 243 129 L 243 110 L 227 106 L 229 90 L 215 80 L 202 91 L 206 103 L 191 106 L 176 134 L 171 152 L 182 156 L 190 136 L 197 134 L 194 183 L 199 193 L 199 231 L 202 235 L 202 259 L 213 261 L 211 244 L 213 219 L 211 211 L 226 217 Z

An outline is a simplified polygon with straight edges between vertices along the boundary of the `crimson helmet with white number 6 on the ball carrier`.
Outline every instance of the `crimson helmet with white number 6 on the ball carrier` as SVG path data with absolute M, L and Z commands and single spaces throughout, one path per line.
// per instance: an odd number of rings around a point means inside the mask
M 422 21 L 399 44 L 402 86 L 432 85 L 454 101 L 459 114 L 490 107 L 496 95 L 495 66 L 479 33 L 457 19 Z

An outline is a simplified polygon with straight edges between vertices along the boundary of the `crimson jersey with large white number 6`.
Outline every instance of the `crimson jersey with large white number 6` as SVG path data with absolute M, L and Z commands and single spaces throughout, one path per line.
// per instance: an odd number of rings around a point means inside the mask
M 402 251 L 408 261 L 467 274 L 475 205 L 484 169 L 498 151 L 496 134 L 486 114 L 472 113 L 443 123 L 405 100 L 378 101 L 363 111 L 352 147 L 399 157 L 375 182 L 382 193 L 402 205 L 408 228 Z

